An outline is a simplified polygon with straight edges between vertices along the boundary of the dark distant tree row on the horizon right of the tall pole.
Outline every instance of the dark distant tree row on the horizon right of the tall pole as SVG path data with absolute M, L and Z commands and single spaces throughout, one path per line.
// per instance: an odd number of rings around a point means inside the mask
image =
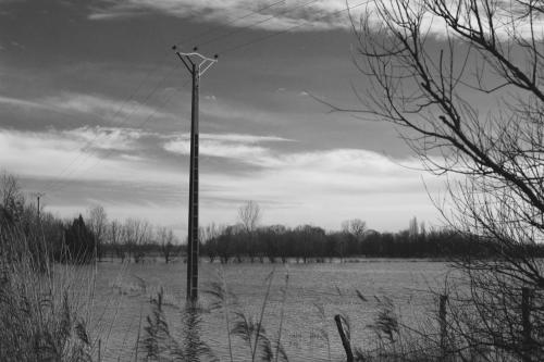
M 201 233 L 201 250 L 210 262 L 221 263 L 244 260 L 285 263 L 288 259 L 308 263 L 361 257 L 485 257 L 485 250 L 470 237 L 447 229 L 426 232 L 424 227 L 410 225 L 399 233 L 378 233 L 367 229 L 364 222 L 353 220 L 346 222 L 342 230 L 326 233 L 312 225 L 295 228 L 272 225 L 248 232 L 242 224 L 212 224 Z

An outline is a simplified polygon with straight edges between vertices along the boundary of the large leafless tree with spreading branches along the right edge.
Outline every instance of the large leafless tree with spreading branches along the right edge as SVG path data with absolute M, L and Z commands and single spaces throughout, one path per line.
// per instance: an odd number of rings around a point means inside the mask
M 462 321 L 452 327 L 477 350 L 536 360 L 544 339 L 520 327 L 519 305 L 521 287 L 544 286 L 535 258 L 544 240 L 542 1 L 372 9 L 354 22 L 369 88 L 358 93 L 362 109 L 349 111 L 393 123 L 428 171 L 449 176 L 444 216 L 489 250 L 458 261 L 468 283 L 459 299 L 472 308 L 453 311 Z M 542 328 L 542 309 L 531 313 L 532 330 Z

